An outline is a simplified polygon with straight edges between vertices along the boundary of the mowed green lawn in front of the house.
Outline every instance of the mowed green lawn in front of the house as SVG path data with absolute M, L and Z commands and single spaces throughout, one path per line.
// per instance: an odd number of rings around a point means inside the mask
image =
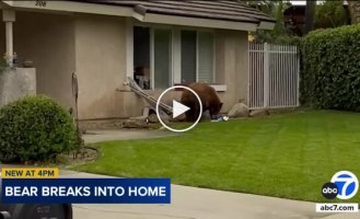
M 101 143 L 77 170 L 326 201 L 321 187 L 340 170 L 360 178 L 360 114 L 305 112 L 204 123 L 179 137 Z M 360 201 L 359 194 L 349 201 Z

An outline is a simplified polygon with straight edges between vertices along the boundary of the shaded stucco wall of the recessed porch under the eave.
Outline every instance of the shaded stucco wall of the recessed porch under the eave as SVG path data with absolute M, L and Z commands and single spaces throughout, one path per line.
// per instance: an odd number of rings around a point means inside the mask
M 36 92 L 47 94 L 65 107 L 73 105 L 71 73 L 74 71 L 73 19 L 66 14 L 16 11 L 14 51 L 19 65 L 32 60 L 36 68 Z M 4 23 L 0 22 L 0 54 L 4 51 Z

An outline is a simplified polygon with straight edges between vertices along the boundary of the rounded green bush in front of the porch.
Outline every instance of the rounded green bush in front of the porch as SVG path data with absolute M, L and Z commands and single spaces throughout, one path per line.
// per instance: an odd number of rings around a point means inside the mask
M 26 96 L 0 108 L 2 161 L 49 161 L 74 149 L 72 118 L 51 99 Z

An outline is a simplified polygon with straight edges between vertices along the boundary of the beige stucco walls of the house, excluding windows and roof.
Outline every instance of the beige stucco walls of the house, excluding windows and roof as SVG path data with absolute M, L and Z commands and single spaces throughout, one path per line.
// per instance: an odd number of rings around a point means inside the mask
M 147 103 L 126 91 L 126 18 L 90 14 L 16 12 L 14 50 L 19 62 L 34 61 L 37 93 L 73 106 L 71 73 L 79 80 L 80 119 L 126 118 L 142 114 Z M 227 113 L 247 96 L 247 32 L 216 30 L 216 82 Z M 0 24 L 4 53 L 4 24 Z M 158 97 L 162 90 L 147 91 Z M 172 94 L 179 100 L 181 92 Z M 171 104 L 171 96 L 166 96 Z

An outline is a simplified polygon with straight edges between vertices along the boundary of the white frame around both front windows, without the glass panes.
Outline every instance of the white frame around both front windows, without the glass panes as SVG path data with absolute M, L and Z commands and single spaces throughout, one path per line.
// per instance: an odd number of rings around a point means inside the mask
M 212 28 L 201 28 L 201 27 L 187 27 L 187 26 L 171 26 L 165 24 L 148 24 L 148 23 L 140 23 L 133 22 L 132 20 L 128 20 L 127 24 L 127 34 L 126 34 L 126 70 L 127 77 L 133 78 L 133 27 L 135 26 L 143 26 L 150 28 L 150 90 L 156 90 L 154 88 L 154 30 L 155 28 L 166 28 L 171 31 L 171 69 L 169 72 L 170 76 L 170 85 L 181 84 L 182 83 L 182 31 L 196 31 L 196 81 L 198 81 L 198 72 L 199 72 L 199 65 L 198 65 L 198 33 L 199 32 L 208 32 L 213 35 L 213 44 L 212 44 L 212 83 L 216 82 L 216 33 Z M 128 57 L 130 56 L 130 57 Z

